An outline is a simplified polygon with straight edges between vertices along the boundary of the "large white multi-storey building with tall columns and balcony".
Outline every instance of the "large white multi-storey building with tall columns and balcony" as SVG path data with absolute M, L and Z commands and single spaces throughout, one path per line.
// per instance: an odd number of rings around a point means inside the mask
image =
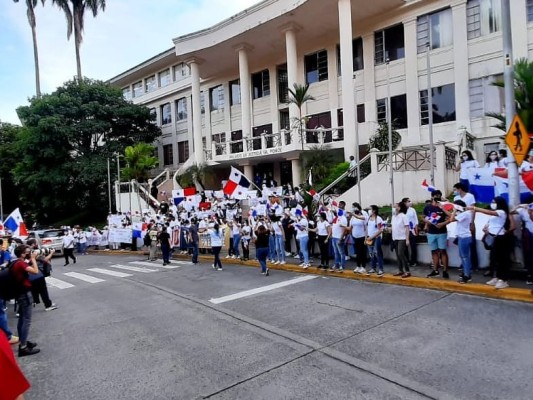
M 466 130 L 484 161 L 502 145 L 485 116 L 503 109 L 503 92 L 491 86 L 504 67 L 500 3 L 264 0 L 174 39 L 111 83 L 157 114 L 161 165 L 176 169 L 194 151 L 198 161 L 299 184 L 302 143 L 284 131 L 298 117 L 288 88 L 310 84 L 307 127 L 326 129 L 308 132 L 304 146 L 328 143 L 347 159 L 359 143 L 364 155 L 389 96 L 403 148 L 427 145 L 429 44 L 434 140 L 454 144 Z M 529 58 L 533 0 L 510 3 L 513 58 Z

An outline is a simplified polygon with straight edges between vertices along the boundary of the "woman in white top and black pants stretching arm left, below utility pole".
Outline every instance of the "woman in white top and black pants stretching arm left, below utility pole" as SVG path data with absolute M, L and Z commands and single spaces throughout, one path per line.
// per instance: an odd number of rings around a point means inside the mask
M 514 230 L 514 221 L 509 218 L 509 207 L 503 197 L 497 196 L 490 203 L 490 210 L 478 207 L 467 207 L 468 210 L 490 215 L 489 222 L 483 228 L 483 232 L 494 237 L 494 245 L 490 250 L 491 274 L 496 271 L 496 277 L 487 282 L 487 285 L 496 289 L 509 287 L 509 266 L 511 265 L 511 250 L 513 249 L 512 235 L 508 233 Z

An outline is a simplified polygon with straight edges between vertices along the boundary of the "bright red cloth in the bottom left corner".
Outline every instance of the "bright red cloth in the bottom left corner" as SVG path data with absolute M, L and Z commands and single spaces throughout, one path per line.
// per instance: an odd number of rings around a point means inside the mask
M 4 334 L 0 334 L 0 377 L 0 400 L 14 400 L 30 388 Z

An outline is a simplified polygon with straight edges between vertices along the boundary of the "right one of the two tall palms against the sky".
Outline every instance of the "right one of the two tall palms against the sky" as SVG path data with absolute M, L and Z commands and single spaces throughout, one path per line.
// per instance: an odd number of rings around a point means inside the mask
M 63 10 L 67 19 L 67 38 L 72 36 L 74 29 L 74 44 L 76 46 L 76 66 L 78 69 L 78 80 L 82 79 L 80 45 L 83 41 L 83 25 L 85 18 L 85 9 L 92 11 L 93 17 L 96 17 L 98 10 L 105 11 L 105 0 L 52 0 L 52 2 Z M 72 3 L 72 8 L 70 7 Z

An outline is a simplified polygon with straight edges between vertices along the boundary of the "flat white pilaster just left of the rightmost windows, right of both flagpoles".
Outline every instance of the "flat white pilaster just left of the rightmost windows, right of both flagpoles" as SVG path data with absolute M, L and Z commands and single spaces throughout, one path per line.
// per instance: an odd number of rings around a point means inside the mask
M 470 93 L 468 82 L 468 36 L 466 30 L 466 2 L 452 6 L 453 47 L 455 72 L 455 122 L 457 128 L 470 130 Z

